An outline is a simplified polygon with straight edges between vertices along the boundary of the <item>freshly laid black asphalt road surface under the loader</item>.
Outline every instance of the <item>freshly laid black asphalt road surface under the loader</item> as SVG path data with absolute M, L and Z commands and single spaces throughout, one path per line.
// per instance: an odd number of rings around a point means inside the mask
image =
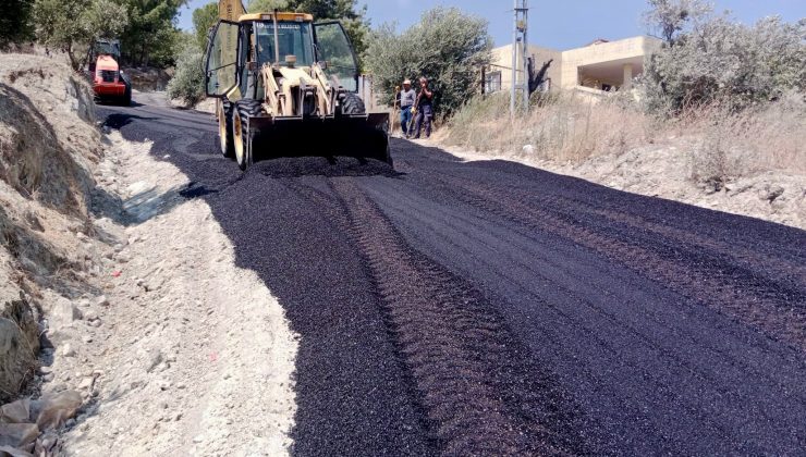
M 242 173 L 208 114 L 99 112 L 302 335 L 297 455 L 806 454 L 806 232 L 396 139 Z

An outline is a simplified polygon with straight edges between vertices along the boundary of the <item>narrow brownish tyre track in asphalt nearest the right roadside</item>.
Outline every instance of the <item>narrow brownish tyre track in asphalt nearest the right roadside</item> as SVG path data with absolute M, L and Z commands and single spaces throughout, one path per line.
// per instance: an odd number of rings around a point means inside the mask
M 785 282 L 708 256 L 699 249 L 683 252 L 658 237 L 639 231 L 619 232 L 613 224 L 582 220 L 569 208 L 558 208 L 534 196 L 528 202 L 484 183 L 439 175 L 443 192 L 456 195 L 479 209 L 560 235 L 643 273 L 650 280 L 725 312 L 770 337 L 806 351 L 806 294 Z M 461 192 L 457 192 L 461 189 Z

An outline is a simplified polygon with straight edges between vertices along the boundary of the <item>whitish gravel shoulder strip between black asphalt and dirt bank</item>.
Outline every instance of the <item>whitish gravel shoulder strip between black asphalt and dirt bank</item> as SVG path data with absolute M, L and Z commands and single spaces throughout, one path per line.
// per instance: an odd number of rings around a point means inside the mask
M 100 322 L 52 365 L 89 399 L 68 455 L 283 455 L 297 348 L 277 299 L 234 264 L 187 177 L 117 133 L 99 164 L 95 221 L 106 259 L 83 300 Z M 259 418 L 259 419 L 258 419 Z

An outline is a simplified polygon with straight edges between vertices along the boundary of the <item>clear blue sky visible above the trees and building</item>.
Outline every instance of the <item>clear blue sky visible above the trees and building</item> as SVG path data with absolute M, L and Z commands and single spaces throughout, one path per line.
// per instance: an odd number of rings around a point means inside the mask
M 209 0 L 191 0 L 182 11 L 180 27 L 193 28 L 191 14 Z M 246 1 L 245 1 L 246 3 Z M 359 0 L 369 7 L 374 26 L 396 21 L 404 29 L 433 7 L 457 7 L 487 18 L 496 46 L 512 40 L 512 0 Z M 787 22 L 806 17 L 806 0 L 718 0 L 719 11 L 731 10 L 742 22 L 781 15 Z M 646 33 L 640 14 L 646 0 L 529 0 L 529 41 L 553 49 L 586 45 L 596 38 L 618 39 Z

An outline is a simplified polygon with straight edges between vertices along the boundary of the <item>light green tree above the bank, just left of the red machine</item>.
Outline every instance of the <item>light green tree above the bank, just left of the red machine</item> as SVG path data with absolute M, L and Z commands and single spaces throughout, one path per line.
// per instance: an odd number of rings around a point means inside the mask
M 119 36 L 127 20 L 125 9 L 112 0 L 36 0 L 34 23 L 39 41 L 66 52 L 78 70 L 89 46 Z

